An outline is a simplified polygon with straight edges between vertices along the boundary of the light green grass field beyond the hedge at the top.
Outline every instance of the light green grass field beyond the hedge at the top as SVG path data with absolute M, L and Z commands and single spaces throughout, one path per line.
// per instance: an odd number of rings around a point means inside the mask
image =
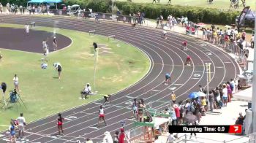
M 127 1 L 127 0 L 117 0 L 117 1 Z M 152 3 L 153 0 L 132 0 L 132 2 L 137 3 Z M 173 5 L 181 5 L 181 6 L 194 6 L 194 7 L 210 7 L 217 9 L 229 9 L 230 0 L 214 0 L 213 4 L 208 4 L 207 0 L 171 0 Z M 160 4 L 167 4 L 168 0 L 160 0 Z M 157 2 L 158 3 L 158 2 Z M 239 5 L 242 4 L 241 0 L 239 1 Z M 252 7 L 251 9 L 255 9 L 255 0 L 246 0 L 246 6 Z M 239 9 L 242 9 L 240 7 Z

